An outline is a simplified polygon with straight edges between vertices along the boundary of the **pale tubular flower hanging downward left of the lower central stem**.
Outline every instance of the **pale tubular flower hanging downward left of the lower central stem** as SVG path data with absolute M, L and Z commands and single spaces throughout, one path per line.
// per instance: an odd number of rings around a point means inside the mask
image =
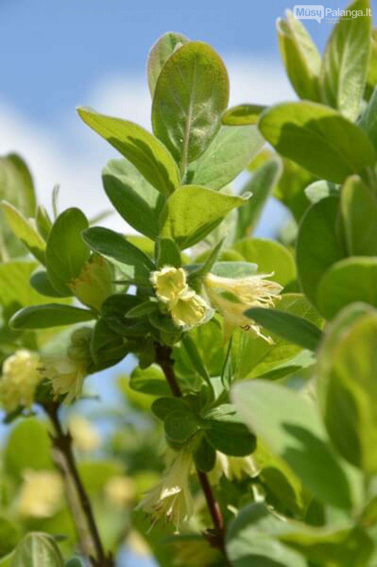
M 193 497 L 189 488 L 192 464 L 192 454 L 187 450 L 179 451 L 159 483 L 137 506 L 138 510 L 153 514 L 155 522 L 160 518 L 172 522 L 176 534 L 180 523 L 187 521 L 193 513 Z

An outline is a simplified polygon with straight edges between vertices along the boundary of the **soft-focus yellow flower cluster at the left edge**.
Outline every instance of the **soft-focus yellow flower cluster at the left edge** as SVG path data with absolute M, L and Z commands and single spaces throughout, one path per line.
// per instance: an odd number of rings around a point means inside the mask
M 29 350 L 18 350 L 6 359 L 0 380 L 0 400 L 6 412 L 19 406 L 31 407 L 42 378 L 40 369 L 39 355 Z

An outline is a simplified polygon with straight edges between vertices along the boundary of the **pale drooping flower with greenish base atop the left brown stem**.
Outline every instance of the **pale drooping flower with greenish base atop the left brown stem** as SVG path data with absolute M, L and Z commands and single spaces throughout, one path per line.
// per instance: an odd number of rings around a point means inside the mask
M 51 380 L 54 396 L 66 396 L 69 404 L 82 394 L 84 378 L 88 375 L 91 329 L 82 327 L 71 336 L 71 344 L 63 355 L 43 358 L 43 373 Z

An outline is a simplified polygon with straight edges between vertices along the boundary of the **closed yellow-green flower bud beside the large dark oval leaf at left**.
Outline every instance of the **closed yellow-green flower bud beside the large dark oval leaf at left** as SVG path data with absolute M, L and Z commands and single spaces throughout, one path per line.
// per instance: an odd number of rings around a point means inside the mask
M 105 299 L 113 293 L 113 279 L 111 264 L 94 254 L 79 277 L 70 282 L 69 288 L 84 305 L 99 311 Z

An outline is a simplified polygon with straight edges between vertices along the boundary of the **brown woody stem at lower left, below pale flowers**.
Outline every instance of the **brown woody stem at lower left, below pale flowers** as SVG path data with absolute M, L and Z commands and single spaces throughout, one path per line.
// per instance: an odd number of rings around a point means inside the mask
M 52 442 L 54 447 L 61 452 L 66 463 L 66 467 L 62 468 L 62 471 L 69 473 L 70 480 L 77 491 L 78 498 L 81 504 L 82 511 L 86 518 L 88 530 L 91 535 L 93 547 L 95 549 L 95 556 L 90 557 L 91 564 L 93 567 L 114 567 L 114 561 L 111 555 L 106 555 L 98 527 L 95 521 L 94 513 L 90 503 L 90 499 L 86 493 L 84 485 L 82 483 L 81 477 L 79 475 L 75 457 L 72 450 L 72 437 L 68 432 L 65 432 L 62 428 L 58 410 L 59 404 L 49 403 L 44 405 L 46 414 L 48 414 L 50 421 L 54 428 L 54 435 L 52 435 Z M 85 546 L 87 548 L 87 545 Z

